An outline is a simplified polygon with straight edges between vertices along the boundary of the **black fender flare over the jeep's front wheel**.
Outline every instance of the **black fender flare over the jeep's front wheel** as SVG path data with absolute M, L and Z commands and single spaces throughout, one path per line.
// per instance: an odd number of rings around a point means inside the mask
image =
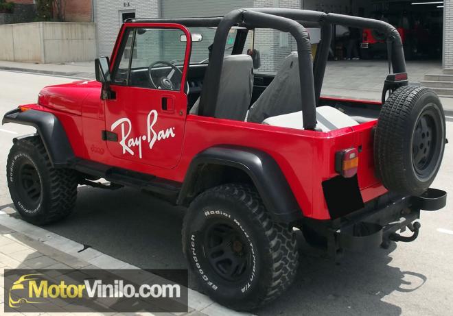
M 1 123 L 2 125 L 16 123 L 35 127 L 54 167 L 67 167 L 75 160 L 65 128 L 54 114 L 38 110 L 22 111 L 17 108 L 6 112 Z M 14 138 L 14 141 L 17 141 L 17 138 Z

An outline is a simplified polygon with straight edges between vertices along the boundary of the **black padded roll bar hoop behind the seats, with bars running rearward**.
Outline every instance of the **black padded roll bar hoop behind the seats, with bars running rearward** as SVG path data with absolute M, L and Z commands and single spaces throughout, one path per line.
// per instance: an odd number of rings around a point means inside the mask
M 388 38 L 388 45 L 391 45 L 391 62 L 394 73 L 405 73 L 406 62 L 401 37 L 397 29 L 392 25 L 373 19 L 365 19 L 357 16 L 342 14 L 325 14 L 323 12 L 295 10 L 295 9 L 273 9 L 273 8 L 251 8 L 239 9 L 229 12 L 218 24 L 216 36 L 213 42 L 211 60 L 205 75 L 205 81 L 200 97 L 199 114 L 213 117 L 216 113 L 217 97 L 220 85 L 220 74 L 222 72 L 225 42 L 229 30 L 233 25 L 247 25 L 248 27 L 269 27 L 282 32 L 290 32 L 297 42 L 299 52 L 299 75 L 301 80 L 301 110 L 303 112 L 303 128 L 305 130 L 316 129 L 316 100 L 321 95 L 322 81 L 324 77 L 325 64 L 328 57 L 330 41 L 321 45 L 320 53 L 316 63 L 316 82 L 314 82 L 313 63 L 311 59 L 311 45 L 307 30 L 299 21 L 308 23 L 320 23 L 331 27 L 322 27 L 323 35 L 332 38 L 332 25 L 344 25 L 347 27 L 370 27 L 384 32 Z M 329 30 L 330 29 L 330 30 Z M 328 37 L 327 37 L 328 40 Z M 315 86 L 316 84 L 316 93 Z

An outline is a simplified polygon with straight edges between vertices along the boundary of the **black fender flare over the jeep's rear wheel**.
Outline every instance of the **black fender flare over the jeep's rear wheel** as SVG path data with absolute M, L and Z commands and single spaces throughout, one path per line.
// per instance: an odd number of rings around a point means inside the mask
M 245 147 L 214 146 L 197 154 L 189 165 L 177 204 L 185 204 L 200 165 L 224 165 L 244 171 L 255 184 L 272 219 L 283 223 L 302 219 L 301 208 L 274 158 L 264 151 Z

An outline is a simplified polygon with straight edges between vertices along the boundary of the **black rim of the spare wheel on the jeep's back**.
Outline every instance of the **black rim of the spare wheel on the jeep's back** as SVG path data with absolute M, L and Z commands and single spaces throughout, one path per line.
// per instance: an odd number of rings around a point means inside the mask
M 430 178 L 439 160 L 441 124 L 431 108 L 421 112 L 412 141 L 412 163 L 419 180 Z

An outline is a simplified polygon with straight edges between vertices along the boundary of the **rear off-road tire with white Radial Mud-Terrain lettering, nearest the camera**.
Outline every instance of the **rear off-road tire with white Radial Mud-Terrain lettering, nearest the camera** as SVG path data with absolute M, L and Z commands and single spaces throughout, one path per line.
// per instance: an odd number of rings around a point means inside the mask
M 214 270 L 203 236 L 216 221 L 229 223 L 246 236 L 246 247 L 254 254 L 253 278 L 244 272 L 244 278 L 233 282 Z M 299 265 L 292 228 L 272 221 L 256 189 L 246 184 L 216 186 L 194 199 L 183 223 L 183 251 L 205 293 L 237 311 L 253 310 L 281 295 Z

